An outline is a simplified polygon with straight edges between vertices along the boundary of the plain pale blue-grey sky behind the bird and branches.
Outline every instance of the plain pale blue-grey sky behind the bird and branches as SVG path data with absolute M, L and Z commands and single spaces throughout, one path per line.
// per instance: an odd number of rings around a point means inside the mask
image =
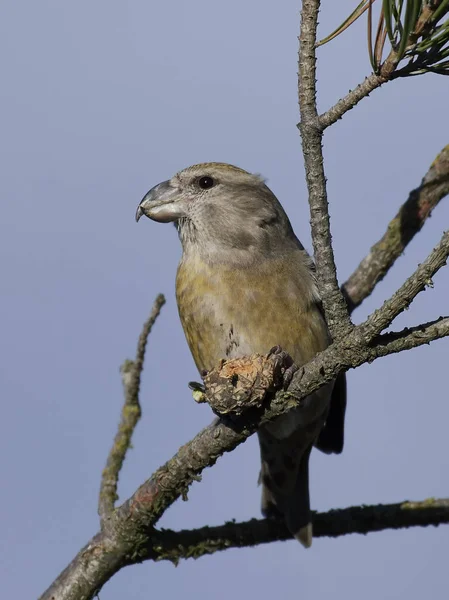
M 325 0 L 320 35 L 353 0 Z M 177 170 L 225 161 L 262 173 L 310 249 L 295 127 L 300 2 L 4 0 L 0 7 L 0 572 L 4 598 L 35 598 L 98 529 L 99 478 L 132 357 L 158 292 L 143 419 L 120 480 L 127 498 L 210 422 L 174 299 L 172 226 L 134 213 Z M 319 51 L 319 107 L 370 71 L 365 21 Z M 449 84 L 387 84 L 325 135 L 339 277 L 350 275 L 449 143 Z M 447 229 L 449 199 L 355 314 L 360 321 Z M 449 270 L 395 328 L 449 312 Z M 313 508 L 449 495 L 449 340 L 350 372 L 344 454 L 315 452 Z M 219 460 L 161 526 L 259 516 L 254 438 Z M 421 599 L 447 589 L 449 528 L 230 550 L 122 570 L 102 600 L 195 597 Z

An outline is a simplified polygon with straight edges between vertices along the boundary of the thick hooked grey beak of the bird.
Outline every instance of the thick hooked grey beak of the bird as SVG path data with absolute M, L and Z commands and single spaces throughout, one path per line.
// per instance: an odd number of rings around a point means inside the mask
M 183 200 L 177 197 L 178 193 L 169 181 L 154 186 L 139 203 L 136 221 L 139 221 L 142 215 L 159 223 L 170 223 L 185 217 L 185 205 Z

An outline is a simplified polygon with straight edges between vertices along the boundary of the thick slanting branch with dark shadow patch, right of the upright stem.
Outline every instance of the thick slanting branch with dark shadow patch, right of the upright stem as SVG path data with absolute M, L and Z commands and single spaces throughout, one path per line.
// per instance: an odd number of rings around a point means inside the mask
M 419 187 L 412 190 L 382 238 L 343 285 L 352 312 L 385 277 L 407 244 L 421 230 L 433 209 L 449 194 L 449 145 L 431 164 Z

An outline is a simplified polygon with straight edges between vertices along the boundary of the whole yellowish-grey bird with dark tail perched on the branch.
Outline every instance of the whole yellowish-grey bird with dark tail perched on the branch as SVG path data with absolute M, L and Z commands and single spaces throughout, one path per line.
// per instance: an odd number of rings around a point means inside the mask
M 227 163 L 193 165 L 145 194 L 136 220 L 143 215 L 178 230 L 176 300 L 200 373 L 273 347 L 301 367 L 331 343 L 313 260 L 260 175 Z M 292 409 L 258 429 L 262 514 L 283 519 L 304 547 L 313 538 L 312 447 L 343 450 L 344 373 L 314 394 L 324 409 L 311 422 Z

